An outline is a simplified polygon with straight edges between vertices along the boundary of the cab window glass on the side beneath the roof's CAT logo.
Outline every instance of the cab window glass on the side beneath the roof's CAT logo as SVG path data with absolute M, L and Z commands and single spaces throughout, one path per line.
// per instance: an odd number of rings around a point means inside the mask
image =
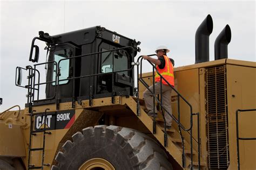
M 102 51 L 107 51 L 107 49 L 102 48 Z M 113 56 L 114 56 L 114 66 L 113 66 Z M 119 71 L 128 69 L 128 58 L 125 51 L 112 51 L 102 53 L 101 61 L 101 73 L 110 73 L 112 70 Z M 118 72 L 127 75 L 127 71 Z

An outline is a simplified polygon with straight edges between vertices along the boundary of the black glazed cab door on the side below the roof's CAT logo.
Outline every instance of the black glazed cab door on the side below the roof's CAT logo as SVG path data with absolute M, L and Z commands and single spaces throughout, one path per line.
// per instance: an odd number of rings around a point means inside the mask
M 112 90 L 116 95 L 130 95 L 133 88 L 132 71 L 130 68 L 130 55 L 125 50 L 114 50 L 106 52 L 118 47 L 102 43 L 99 45 L 98 72 L 104 75 L 98 76 L 97 94 L 106 94 L 110 96 Z M 123 72 L 121 72 L 124 70 Z M 117 72 L 120 71 L 120 72 Z M 112 72 L 114 73 L 112 76 Z M 112 81 L 112 79 L 114 79 Z M 113 83 L 113 84 L 112 84 Z

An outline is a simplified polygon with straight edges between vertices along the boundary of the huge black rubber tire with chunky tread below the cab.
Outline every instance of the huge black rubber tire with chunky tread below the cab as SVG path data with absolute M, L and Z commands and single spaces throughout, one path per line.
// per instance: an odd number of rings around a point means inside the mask
M 66 141 L 56 156 L 56 169 L 79 169 L 92 158 L 103 158 L 115 169 L 171 170 L 166 153 L 149 136 L 119 126 L 99 125 L 83 129 Z

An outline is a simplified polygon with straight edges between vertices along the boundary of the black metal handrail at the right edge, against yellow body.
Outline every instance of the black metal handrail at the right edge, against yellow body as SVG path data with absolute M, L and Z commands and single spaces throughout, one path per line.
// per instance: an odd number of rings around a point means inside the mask
M 235 112 L 235 128 L 237 130 L 237 167 L 240 170 L 240 154 L 239 154 L 239 140 L 256 140 L 256 138 L 240 138 L 239 137 L 239 127 L 238 127 L 238 112 L 245 112 L 245 111 L 256 111 L 256 109 L 238 109 Z

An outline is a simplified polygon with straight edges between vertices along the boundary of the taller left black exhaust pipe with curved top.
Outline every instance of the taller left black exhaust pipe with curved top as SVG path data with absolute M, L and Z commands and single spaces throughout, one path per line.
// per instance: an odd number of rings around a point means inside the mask
M 196 32 L 196 63 L 209 61 L 209 36 L 212 29 L 212 17 L 207 15 Z

